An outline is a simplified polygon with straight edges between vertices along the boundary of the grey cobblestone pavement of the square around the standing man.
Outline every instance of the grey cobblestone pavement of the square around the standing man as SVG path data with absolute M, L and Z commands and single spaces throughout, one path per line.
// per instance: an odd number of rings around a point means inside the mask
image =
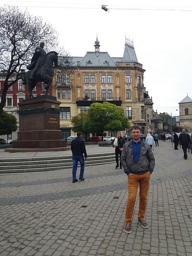
M 137 200 L 131 234 L 115 164 L 85 167 L 77 183 L 72 170 L 0 175 L 0 256 L 192 256 L 192 155 L 161 141 L 154 155 L 149 229 L 137 225 Z

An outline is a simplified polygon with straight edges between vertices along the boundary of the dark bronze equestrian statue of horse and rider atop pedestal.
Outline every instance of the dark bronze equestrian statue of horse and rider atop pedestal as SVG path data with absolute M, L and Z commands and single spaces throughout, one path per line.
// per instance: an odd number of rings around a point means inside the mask
M 46 95 L 48 94 L 48 88 L 53 80 L 53 63 L 54 66 L 58 66 L 58 53 L 56 51 L 50 51 L 46 54 L 44 43 L 40 43 L 40 46 L 36 48 L 31 64 L 27 66 L 29 71 L 24 73 L 23 84 L 28 84 L 29 97 L 34 98 L 32 91 L 38 82 L 44 82 Z

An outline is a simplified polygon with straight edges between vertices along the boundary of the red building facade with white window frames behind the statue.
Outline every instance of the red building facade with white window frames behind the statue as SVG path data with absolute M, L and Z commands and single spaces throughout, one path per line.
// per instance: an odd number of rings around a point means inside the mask
M 15 77 L 13 75 L 10 82 L 14 81 L 14 80 L 15 80 Z M 5 76 L 2 72 L 2 73 L 0 73 L 0 98 L 1 98 L 3 88 L 4 88 L 4 81 L 5 81 Z M 37 95 L 42 95 L 42 94 L 45 94 L 44 85 L 42 83 L 39 83 L 33 89 L 33 95 L 35 97 Z M 48 94 L 49 95 L 52 94 L 51 88 L 49 88 Z M 8 136 L 6 136 L 6 135 L 1 136 L 1 138 L 4 138 L 7 141 L 7 143 L 11 142 L 12 140 L 17 139 L 17 132 L 19 131 L 19 114 L 18 114 L 19 106 L 18 106 L 18 103 L 22 102 L 24 99 L 27 99 L 27 98 L 29 98 L 28 88 L 27 88 L 27 85 L 23 85 L 22 80 L 18 80 L 18 82 L 14 83 L 11 87 L 9 87 L 7 95 L 6 95 L 5 107 L 3 108 L 3 110 L 5 110 L 9 114 L 12 114 L 16 117 L 17 131 L 13 132 L 12 134 L 9 134 Z

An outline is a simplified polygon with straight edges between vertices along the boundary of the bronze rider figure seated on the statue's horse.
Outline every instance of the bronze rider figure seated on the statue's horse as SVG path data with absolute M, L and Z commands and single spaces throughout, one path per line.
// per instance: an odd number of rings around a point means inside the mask
M 44 63 L 46 57 L 46 51 L 43 49 L 44 45 L 44 42 L 40 43 L 39 47 L 37 47 L 35 50 L 35 53 L 31 60 L 31 64 L 27 66 L 27 69 L 31 70 L 31 75 L 29 79 L 34 79 L 34 75 Z

